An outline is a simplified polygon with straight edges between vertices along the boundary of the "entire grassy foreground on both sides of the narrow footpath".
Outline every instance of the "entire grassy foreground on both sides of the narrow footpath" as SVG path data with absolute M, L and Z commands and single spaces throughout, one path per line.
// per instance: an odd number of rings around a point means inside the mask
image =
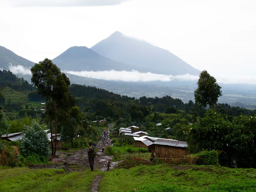
M 121 165 L 126 164 L 123 162 Z M 143 164 L 143 163 L 142 163 Z M 129 167 L 127 167 L 129 168 Z M 78 170 L 79 171 L 79 170 Z M 255 169 L 220 166 L 139 165 L 110 172 L 64 172 L 59 169 L 0 169 L 0 191 L 89 191 L 92 180 L 103 175 L 99 192 L 253 192 Z

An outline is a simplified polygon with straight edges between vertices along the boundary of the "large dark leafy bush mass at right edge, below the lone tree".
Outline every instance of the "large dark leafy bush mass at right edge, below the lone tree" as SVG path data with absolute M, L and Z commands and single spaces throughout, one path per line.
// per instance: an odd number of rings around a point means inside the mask
M 230 118 L 208 110 L 188 132 L 188 148 L 192 153 L 202 150 L 220 151 L 219 162 L 229 167 L 256 167 L 256 116 Z

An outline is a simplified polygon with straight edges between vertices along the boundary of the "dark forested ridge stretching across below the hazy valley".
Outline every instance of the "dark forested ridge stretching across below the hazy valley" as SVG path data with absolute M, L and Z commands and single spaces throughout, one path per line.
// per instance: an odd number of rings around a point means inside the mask
M 184 103 L 180 99 L 174 99 L 170 96 L 159 97 L 134 97 L 121 96 L 104 89 L 72 84 L 69 88 L 71 94 L 76 97 L 76 105 L 82 111 L 94 113 L 95 116 L 110 117 L 114 120 L 121 118 L 130 118 L 132 120 L 143 120 L 150 111 L 175 113 L 177 109 L 183 110 L 193 116 L 204 116 L 206 109 L 198 108 L 198 106 L 190 100 Z M 231 107 L 230 105 L 219 103 L 215 106 L 217 112 L 228 116 L 254 115 L 256 110 L 249 110 L 239 107 Z M 95 117 L 94 117 L 95 118 Z

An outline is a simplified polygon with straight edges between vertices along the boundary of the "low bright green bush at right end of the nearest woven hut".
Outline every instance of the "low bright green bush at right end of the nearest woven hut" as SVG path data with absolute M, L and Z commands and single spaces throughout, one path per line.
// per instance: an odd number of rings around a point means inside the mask
M 202 151 L 192 156 L 198 157 L 197 165 L 219 165 L 219 154 L 216 150 Z

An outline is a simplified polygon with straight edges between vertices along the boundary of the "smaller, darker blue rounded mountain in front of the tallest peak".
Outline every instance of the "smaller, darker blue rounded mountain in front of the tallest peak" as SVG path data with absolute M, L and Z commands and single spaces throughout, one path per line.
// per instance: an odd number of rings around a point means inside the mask
M 135 67 L 122 62 L 103 57 L 85 46 L 68 48 L 52 60 L 61 70 L 72 71 L 104 71 L 104 70 L 139 70 L 148 72 L 147 68 Z

